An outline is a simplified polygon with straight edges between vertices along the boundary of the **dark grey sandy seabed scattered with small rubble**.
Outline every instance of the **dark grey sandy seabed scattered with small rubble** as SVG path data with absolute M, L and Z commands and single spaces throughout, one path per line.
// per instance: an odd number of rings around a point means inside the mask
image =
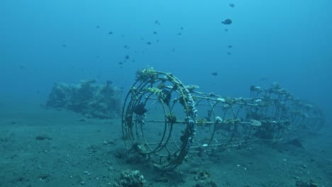
M 38 104 L 0 106 L 0 186 L 114 186 L 139 170 L 145 186 L 332 186 L 332 137 L 301 138 L 304 148 L 256 143 L 218 154 L 191 155 L 173 173 L 126 158 L 121 121 L 87 119 Z M 201 178 L 200 174 L 204 173 Z

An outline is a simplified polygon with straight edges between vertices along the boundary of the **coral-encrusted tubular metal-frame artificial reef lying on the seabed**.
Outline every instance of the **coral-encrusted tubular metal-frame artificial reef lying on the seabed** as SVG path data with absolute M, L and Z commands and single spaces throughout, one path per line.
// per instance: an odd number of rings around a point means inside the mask
M 218 152 L 258 141 L 280 142 L 317 132 L 323 112 L 279 84 L 250 86 L 249 98 L 197 91 L 174 75 L 139 69 L 126 95 L 122 131 L 128 153 L 170 171 L 188 154 Z

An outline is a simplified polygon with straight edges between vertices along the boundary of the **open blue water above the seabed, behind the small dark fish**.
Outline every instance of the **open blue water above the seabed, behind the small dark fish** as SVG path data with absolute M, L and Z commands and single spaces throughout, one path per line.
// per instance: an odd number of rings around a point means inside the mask
M 3 0 L 1 101 L 44 102 L 58 81 L 111 80 L 126 90 L 150 65 L 222 96 L 277 81 L 330 116 L 331 9 L 329 0 Z

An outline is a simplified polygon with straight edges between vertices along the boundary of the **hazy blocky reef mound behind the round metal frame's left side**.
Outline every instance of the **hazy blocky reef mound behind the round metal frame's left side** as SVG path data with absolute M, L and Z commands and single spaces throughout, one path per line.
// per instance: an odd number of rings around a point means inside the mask
M 110 82 L 96 84 L 83 80 L 79 84 L 54 84 L 47 107 L 66 108 L 82 113 L 86 118 L 118 118 L 121 113 L 121 90 Z

